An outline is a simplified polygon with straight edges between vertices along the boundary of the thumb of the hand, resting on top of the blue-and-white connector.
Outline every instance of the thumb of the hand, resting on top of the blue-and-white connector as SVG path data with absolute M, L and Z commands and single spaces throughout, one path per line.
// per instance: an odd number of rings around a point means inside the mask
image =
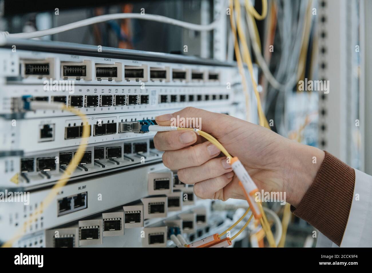
M 213 113 L 194 107 L 186 107 L 173 114 L 164 114 L 155 117 L 161 126 L 192 127 L 213 134 L 218 137 L 220 128 L 229 120 L 228 115 Z

